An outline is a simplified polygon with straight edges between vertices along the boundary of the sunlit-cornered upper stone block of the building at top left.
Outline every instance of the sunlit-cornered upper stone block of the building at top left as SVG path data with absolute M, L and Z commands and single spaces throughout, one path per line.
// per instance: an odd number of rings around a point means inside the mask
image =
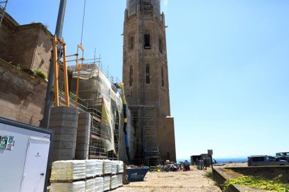
M 48 74 L 52 33 L 43 24 L 19 25 L 5 14 L 0 27 L 0 58 L 22 70 L 41 69 Z

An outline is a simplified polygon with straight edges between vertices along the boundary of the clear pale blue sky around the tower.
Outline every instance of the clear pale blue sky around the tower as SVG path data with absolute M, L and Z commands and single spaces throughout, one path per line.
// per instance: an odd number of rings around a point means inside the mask
M 80 43 L 84 1 L 68 1 L 68 54 Z M 54 33 L 59 1 L 9 1 L 20 24 L 42 22 Z M 125 0 L 87 0 L 85 58 L 101 54 L 121 79 Z M 288 151 L 289 1 L 167 0 L 171 113 L 177 158 Z

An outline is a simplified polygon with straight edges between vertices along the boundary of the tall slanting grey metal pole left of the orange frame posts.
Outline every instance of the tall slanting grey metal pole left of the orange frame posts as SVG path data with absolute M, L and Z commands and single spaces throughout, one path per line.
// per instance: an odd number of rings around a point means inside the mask
M 65 10 L 66 10 L 66 1 L 67 0 L 61 0 L 59 3 L 59 11 L 58 11 L 58 17 L 57 17 L 57 26 L 55 29 L 55 35 L 57 39 L 62 38 L 62 30 L 64 26 L 64 16 L 65 16 Z M 61 47 L 58 47 L 57 55 L 60 54 Z M 43 114 L 43 120 L 41 121 L 40 127 L 48 129 L 49 127 L 49 119 L 50 119 L 50 108 L 52 106 L 53 100 L 54 100 L 54 92 L 53 92 L 53 79 L 54 79 L 54 67 L 53 67 L 53 61 L 50 61 L 50 67 L 49 67 L 49 74 L 48 74 L 48 82 L 47 82 L 47 89 L 46 89 L 46 97 L 45 97 L 45 107 L 44 107 L 44 114 Z

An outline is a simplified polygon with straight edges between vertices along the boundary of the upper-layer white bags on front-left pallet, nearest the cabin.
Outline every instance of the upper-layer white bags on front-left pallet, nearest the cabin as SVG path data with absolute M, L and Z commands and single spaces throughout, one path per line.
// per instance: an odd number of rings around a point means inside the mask
M 54 161 L 52 163 L 51 181 L 76 180 L 86 177 L 84 160 Z

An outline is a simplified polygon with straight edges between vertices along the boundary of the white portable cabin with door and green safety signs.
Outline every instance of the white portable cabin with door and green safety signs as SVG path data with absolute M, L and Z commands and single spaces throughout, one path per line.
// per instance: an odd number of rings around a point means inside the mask
M 0 117 L 0 191 L 46 191 L 53 131 Z

